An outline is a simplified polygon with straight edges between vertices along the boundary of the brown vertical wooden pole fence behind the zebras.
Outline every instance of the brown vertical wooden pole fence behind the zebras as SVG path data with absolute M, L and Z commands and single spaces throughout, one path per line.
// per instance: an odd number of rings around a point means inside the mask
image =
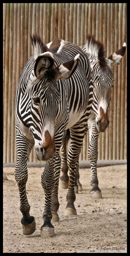
M 93 34 L 106 57 L 127 44 L 127 3 L 3 3 L 3 163 L 17 160 L 14 121 L 19 76 L 33 47 L 29 33 L 47 44 L 55 37 L 83 46 Z M 127 159 L 127 54 L 113 68 L 110 126 L 99 136 L 98 160 Z M 86 134 L 80 160 L 88 160 Z M 34 149 L 30 162 L 36 162 Z

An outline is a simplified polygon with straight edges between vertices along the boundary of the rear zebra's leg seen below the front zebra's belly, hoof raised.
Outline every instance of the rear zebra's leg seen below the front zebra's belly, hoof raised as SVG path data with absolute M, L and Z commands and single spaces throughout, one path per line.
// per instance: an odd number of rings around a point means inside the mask
M 67 155 L 66 155 L 66 143 L 63 142 L 61 145 L 61 173 L 62 175 L 60 176 L 60 185 L 63 189 L 68 188 L 69 184 L 69 176 L 68 176 L 68 165 L 67 165 Z

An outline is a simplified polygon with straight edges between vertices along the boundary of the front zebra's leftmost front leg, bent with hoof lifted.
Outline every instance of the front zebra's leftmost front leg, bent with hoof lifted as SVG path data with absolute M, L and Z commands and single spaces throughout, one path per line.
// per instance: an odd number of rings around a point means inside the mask
M 31 235 L 36 229 L 35 218 L 30 216 L 30 205 L 26 193 L 26 183 L 28 180 L 27 161 L 33 145 L 25 137 L 17 135 L 17 164 L 14 177 L 19 188 L 20 211 L 22 212 L 21 223 L 24 235 Z

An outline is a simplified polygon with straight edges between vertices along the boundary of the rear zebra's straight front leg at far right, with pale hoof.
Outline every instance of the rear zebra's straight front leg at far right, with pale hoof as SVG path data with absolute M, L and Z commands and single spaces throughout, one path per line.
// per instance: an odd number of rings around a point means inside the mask
M 102 198 L 102 192 L 98 186 L 98 178 L 97 178 L 97 158 L 98 158 L 98 137 L 99 132 L 95 130 L 95 121 L 90 123 L 88 121 L 89 126 L 89 149 L 88 149 L 88 157 L 91 163 L 91 197 L 92 198 Z

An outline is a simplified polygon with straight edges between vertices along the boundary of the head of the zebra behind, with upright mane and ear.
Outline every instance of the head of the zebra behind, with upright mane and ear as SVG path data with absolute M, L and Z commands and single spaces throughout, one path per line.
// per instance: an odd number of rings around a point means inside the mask
M 91 76 L 94 84 L 92 108 L 95 113 L 96 128 L 104 132 L 109 125 L 108 109 L 114 82 L 111 67 L 119 64 L 125 54 L 126 44 L 110 57 L 105 58 L 104 46 L 96 41 L 93 35 L 88 35 L 87 43 L 82 47 L 91 65 Z

